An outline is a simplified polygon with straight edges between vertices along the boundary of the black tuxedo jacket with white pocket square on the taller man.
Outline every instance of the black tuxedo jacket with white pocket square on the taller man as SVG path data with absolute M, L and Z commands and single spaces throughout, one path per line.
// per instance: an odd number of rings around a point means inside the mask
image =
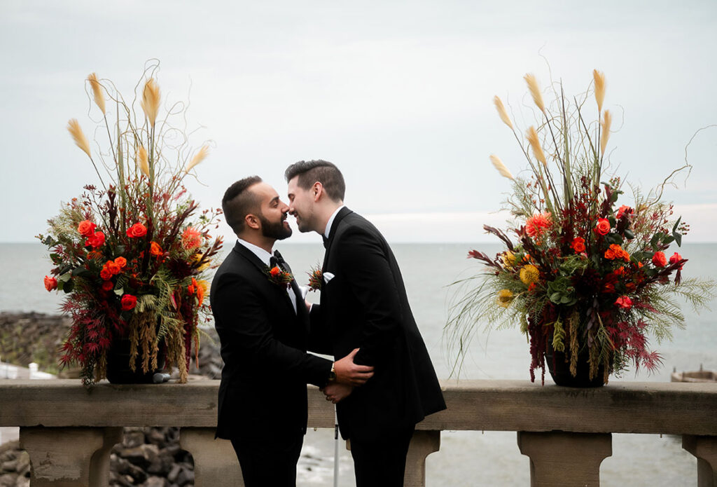
M 433 364 L 409 306 L 391 248 L 371 222 L 344 207 L 325 242 L 320 306 L 323 353 L 336 359 L 360 348 L 357 364 L 374 377 L 337 405 L 343 438 L 377 440 L 445 410 Z M 326 282 L 326 273 L 333 278 Z

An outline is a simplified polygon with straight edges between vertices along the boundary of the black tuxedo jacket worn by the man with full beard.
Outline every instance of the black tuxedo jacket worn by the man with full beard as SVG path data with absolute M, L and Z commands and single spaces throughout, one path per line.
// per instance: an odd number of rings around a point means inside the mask
M 287 288 L 237 242 L 214 275 L 210 301 L 224 360 L 217 436 L 305 432 L 306 384 L 326 384 L 331 361 L 306 353 L 301 297 L 295 313 Z

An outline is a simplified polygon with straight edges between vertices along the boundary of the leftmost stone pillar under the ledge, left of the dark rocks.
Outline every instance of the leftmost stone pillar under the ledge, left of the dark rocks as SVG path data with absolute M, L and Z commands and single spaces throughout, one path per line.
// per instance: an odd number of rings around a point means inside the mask
M 106 487 L 110 450 L 121 427 L 21 427 L 30 456 L 32 487 Z

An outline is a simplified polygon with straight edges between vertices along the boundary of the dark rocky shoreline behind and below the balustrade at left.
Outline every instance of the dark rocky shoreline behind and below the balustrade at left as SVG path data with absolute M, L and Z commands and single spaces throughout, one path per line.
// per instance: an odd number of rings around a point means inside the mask
M 43 313 L 0 313 L 0 356 L 3 361 L 27 367 L 34 361 L 40 370 L 72 377 L 71 370 L 57 368 L 57 350 L 70 326 L 69 318 Z M 191 374 L 219 379 L 222 358 L 213 328 L 201 331 L 199 367 Z M 27 452 L 17 441 L 0 445 L 0 487 L 29 486 Z M 193 487 L 194 460 L 179 446 L 177 427 L 126 427 L 122 443 L 110 455 L 110 486 Z

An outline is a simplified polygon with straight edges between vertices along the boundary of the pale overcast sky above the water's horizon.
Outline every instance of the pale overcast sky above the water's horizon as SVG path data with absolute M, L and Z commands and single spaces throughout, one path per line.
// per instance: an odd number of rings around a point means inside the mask
M 131 97 L 150 58 L 164 99 L 189 97 L 197 145 L 214 141 L 206 186 L 189 181 L 203 207 L 250 174 L 283 197 L 288 164 L 326 159 L 393 242 L 480 242 L 503 222 L 510 188 L 488 156 L 525 163 L 492 98 L 520 110 L 526 72 L 549 82 L 541 55 L 568 94 L 605 73 L 612 165 L 632 184 L 657 184 L 717 123 L 713 0 L 0 0 L 0 42 L 0 242 L 33 241 L 96 183 L 65 130 L 78 118 L 93 133 L 85 77 Z M 685 242 L 717 242 L 716 153 L 717 128 L 698 134 L 692 175 L 668 193 Z

